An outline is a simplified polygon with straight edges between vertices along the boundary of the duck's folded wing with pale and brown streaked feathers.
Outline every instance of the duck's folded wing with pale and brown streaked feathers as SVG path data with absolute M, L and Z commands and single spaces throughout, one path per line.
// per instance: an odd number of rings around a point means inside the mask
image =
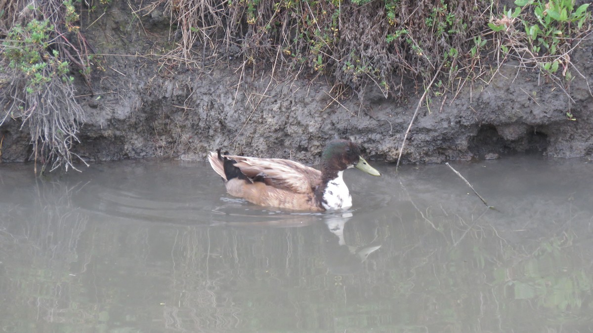
M 288 159 L 224 156 L 252 180 L 294 193 L 313 193 L 321 182 L 321 171 Z

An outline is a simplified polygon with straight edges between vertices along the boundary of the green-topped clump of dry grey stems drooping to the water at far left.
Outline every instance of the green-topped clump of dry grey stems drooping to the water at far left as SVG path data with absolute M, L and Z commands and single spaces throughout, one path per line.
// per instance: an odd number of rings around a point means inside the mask
M 78 14 L 62 0 L 0 0 L 0 9 L 0 125 L 11 118 L 28 128 L 35 172 L 37 162 L 41 172 L 48 166 L 76 169 L 74 161 L 82 159 L 71 148 L 84 113 L 68 71 L 78 69 L 87 83 L 90 75 L 89 46 L 75 25 Z

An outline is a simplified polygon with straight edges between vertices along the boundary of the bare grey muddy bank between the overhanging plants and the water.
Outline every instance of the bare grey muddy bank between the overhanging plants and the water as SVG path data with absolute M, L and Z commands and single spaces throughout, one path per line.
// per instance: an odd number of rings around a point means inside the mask
M 157 54 L 171 44 L 168 17 L 156 12 L 133 20 L 131 9 L 119 2 L 107 13 L 85 31 L 95 52 L 104 55 L 92 87 L 82 79 L 78 85 L 85 120 L 73 151 L 86 161 L 205 160 L 207 151 L 220 147 L 315 162 L 327 140 L 342 137 L 362 143 L 371 159 L 395 162 L 422 94 L 407 82 L 397 98 L 370 89 L 362 100 L 354 95 L 336 101 L 332 83 L 321 76 L 287 80 L 292 75 L 285 68 L 248 68 L 252 72 L 241 76 L 232 52 L 225 66 L 204 63 L 206 72 L 163 66 Z M 589 81 L 592 57 L 591 41 L 571 57 Z M 403 162 L 515 152 L 593 158 L 593 98 L 585 80 L 575 76 L 571 106 L 568 95 L 546 78 L 512 65 L 484 75 L 484 81 L 466 82 L 459 94 L 433 95 L 420 108 Z M 2 161 L 31 158 L 28 132 L 20 123 L 6 121 L 0 134 Z

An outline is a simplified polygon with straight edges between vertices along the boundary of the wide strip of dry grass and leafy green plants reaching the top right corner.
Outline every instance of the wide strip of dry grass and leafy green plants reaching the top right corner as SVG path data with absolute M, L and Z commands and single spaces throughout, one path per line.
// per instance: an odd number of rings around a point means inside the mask
M 466 81 L 519 60 L 566 87 L 570 52 L 591 33 L 588 4 L 518 0 L 499 12 L 490 0 L 157 0 L 181 31 L 164 62 L 208 70 L 230 50 L 243 58 L 237 72 L 273 63 L 295 76 L 327 75 L 336 91 L 364 98 L 368 85 L 397 97 L 402 82 L 417 87 L 438 74 L 436 96 L 458 94 Z M 494 54 L 494 55 L 493 55 Z M 502 59 L 502 60 L 501 60 Z M 441 66 L 441 63 L 443 66 Z M 441 68 L 438 72 L 437 69 Z M 566 80 L 563 81 L 565 78 Z M 456 87 L 456 88 L 453 88 Z M 346 94 L 351 95 L 351 94 Z M 429 101 L 431 97 L 427 98 Z

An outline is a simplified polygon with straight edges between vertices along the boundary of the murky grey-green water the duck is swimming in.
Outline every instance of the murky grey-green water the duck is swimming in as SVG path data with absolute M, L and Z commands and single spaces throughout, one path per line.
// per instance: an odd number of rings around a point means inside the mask
M 591 332 L 593 168 L 345 172 L 353 209 L 225 194 L 205 163 L 0 165 L 2 332 Z

